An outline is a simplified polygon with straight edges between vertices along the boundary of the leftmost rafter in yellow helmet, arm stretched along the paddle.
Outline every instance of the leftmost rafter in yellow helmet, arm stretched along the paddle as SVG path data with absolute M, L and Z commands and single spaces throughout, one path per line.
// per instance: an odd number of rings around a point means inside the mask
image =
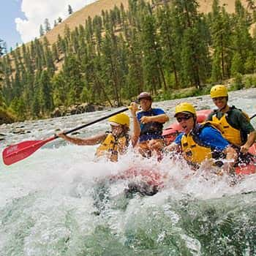
M 58 134 L 60 138 L 76 145 L 97 145 L 97 157 L 107 157 L 112 162 L 118 161 L 118 155 L 124 154 L 129 146 L 129 116 L 126 113 L 119 113 L 108 119 L 111 127 L 110 132 L 105 132 L 90 138 L 75 138 L 64 135 L 64 132 Z

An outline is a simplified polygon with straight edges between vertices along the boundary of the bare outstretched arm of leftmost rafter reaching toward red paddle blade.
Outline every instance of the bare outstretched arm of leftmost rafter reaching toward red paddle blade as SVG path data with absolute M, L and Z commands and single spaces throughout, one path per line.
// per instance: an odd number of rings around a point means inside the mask
M 83 139 L 83 138 L 75 138 L 75 137 L 70 137 L 70 136 L 64 135 L 63 132 L 59 133 L 57 136 L 59 138 L 63 138 L 64 140 L 67 140 L 71 143 L 74 143 L 74 144 L 80 145 L 80 146 L 96 145 L 96 144 L 101 143 L 107 137 L 107 135 L 104 133 L 102 135 L 95 135 L 93 137 Z

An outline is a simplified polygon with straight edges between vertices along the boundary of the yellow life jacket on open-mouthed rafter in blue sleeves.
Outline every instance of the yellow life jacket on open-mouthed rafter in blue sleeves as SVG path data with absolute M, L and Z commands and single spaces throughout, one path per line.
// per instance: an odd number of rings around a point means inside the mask
M 219 127 L 221 132 L 221 127 L 219 124 L 214 124 L 212 121 L 206 121 L 203 124 L 197 124 L 192 132 L 189 132 L 188 135 L 183 135 L 181 138 L 181 150 L 184 159 L 186 159 L 189 164 L 194 165 L 195 167 L 200 165 L 200 163 L 206 159 L 219 159 L 225 156 L 222 152 L 216 151 L 214 148 L 211 148 L 211 146 L 208 146 L 200 141 L 200 132 L 204 127 L 207 126 L 211 126 L 214 129 Z M 217 161 L 215 164 L 222 165 L 222 162 Z

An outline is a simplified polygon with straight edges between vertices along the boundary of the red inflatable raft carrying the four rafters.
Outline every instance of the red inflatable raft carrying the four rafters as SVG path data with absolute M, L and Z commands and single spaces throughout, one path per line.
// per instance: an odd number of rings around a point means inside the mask
M 197 122 L 202 123 L 203 121 L 206 121 L 206 118 L 210 113 L 211 110 L 198 110 Z M 167 145 L 172 143 L 180 132 L 182 132 L 180 124 L 177 122 L 170 124 L 170 126 L 162 132 L 162 135 L 165 138 L 165 143 Z M 247 165 L 240 165 L 239 167 L 236 167 L 236 174 L 246 175 L 256 173 L 256 143 L 249 148 L 249 153 L 252 154 L 251 162 Z

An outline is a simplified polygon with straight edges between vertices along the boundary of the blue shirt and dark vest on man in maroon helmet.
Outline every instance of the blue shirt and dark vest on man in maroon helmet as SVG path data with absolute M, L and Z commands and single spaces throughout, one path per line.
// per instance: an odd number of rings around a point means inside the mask
M 137 113 L 138 121 L 143 116 L 158 116 L 165 114 L 165 111 L 161 108 L 151 108 L 148 111 L 140 111 Z M 146 140 L 162 139 L 162 127 L 163 125 L 159 122 L 150 122 L 147 124 L 140 123 L 140 142 Z

